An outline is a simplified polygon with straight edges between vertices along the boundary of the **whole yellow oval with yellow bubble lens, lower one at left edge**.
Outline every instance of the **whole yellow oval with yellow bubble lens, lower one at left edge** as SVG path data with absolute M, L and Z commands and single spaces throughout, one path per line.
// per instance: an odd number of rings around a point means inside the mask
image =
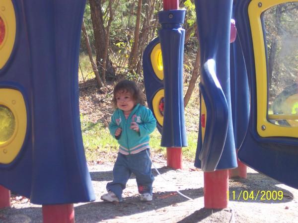
M 27 112 L 18 90 L 0 88 L 0 163 L 14 160 L 24 143 Z

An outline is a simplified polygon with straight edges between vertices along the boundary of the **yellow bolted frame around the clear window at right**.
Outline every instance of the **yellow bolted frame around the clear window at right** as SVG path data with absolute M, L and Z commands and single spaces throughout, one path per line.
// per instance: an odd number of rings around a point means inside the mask
M 272 6 L 286 2 L 298 0 L 252 0 L 248 5 L 256 69 L 257 132 L 261 137 L 298 138 L 298 127 L 278 126 L 267 120 L 267 69 L 261 14 Z

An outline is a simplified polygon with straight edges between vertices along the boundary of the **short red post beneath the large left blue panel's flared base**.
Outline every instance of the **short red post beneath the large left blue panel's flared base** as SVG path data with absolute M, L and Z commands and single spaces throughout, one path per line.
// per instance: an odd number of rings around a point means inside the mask
M 43 205 L 43 223 L 74 223 L 74 204 Z

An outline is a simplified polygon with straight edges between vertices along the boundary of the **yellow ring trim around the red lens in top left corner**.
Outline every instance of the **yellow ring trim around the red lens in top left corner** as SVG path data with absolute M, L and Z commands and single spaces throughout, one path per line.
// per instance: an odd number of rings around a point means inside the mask
M 0 17 L 5 25 L 4 39 L 0 45 L 0 69 L 2 69 L 11 55 L 15 41 L 16 21 L 11 0 L 0 1 Z

